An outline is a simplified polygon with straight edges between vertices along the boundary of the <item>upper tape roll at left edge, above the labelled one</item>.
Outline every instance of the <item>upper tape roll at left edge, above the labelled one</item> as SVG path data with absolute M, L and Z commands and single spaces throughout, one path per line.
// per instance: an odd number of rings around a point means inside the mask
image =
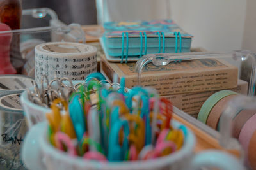
M 0 76 L 0 96 L 21 93 L 33 86 L 35 81 L 23 75 L 2 75 Z

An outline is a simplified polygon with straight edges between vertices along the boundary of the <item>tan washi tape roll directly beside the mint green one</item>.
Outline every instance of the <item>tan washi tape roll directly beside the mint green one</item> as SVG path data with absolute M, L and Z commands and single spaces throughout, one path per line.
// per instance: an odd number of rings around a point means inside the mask
M 217 129 L 221 113 L 225 110 L 228 102 L 232 100 L 234 97 L 236 97 L 236 95 L 234 94 L 223 97 L 223 99 L 221 99 L 220 101 L 218 101 L 218 103 L 215 104 L 207 118 L 207 125 L 209 125 L 209 127 L 212 127 L 212 129 Z

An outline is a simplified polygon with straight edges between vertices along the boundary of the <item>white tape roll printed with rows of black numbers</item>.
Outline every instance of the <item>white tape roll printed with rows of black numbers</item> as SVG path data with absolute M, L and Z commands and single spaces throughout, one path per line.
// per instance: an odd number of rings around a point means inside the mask
M 35 47 L 35 80 L 42 75 L 51 81 L 55 76 L 71 80 L 84 80 L 97 71 L 97 48 L 81 43 L 54 42 Z

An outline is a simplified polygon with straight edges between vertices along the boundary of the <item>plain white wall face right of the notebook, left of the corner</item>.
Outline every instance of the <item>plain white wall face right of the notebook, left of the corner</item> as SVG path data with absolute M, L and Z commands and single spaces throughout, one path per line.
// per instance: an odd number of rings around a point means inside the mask
M 172 19 L 194 36 L 192 46 L 216 52 L 241 49 L 246 0 L 170 1 Z

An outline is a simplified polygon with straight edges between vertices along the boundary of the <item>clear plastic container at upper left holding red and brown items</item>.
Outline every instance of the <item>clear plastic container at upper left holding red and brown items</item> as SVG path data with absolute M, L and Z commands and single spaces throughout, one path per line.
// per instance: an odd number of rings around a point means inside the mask
M 56 13 L 49 8 L 35 8 L 22 11 L 22 29 L 11 31 L 0 31 L 0 42 L 2 48 L 10 48 L 10 60 L 17 74 L 34 77 L 36 45 L 44 42 L 68 41 L 85 43 L 84 31 L 79 24 L 66 25 L 60 20 Z M 12 46 L 6 39 L 12 39 Z M 14 41 L 14 43 L 13 43 Z M 13 45 L 14 44 L 14 45 Z M 4 52 L 8 52 L 6 50 Z M 1 56 L 6 58 L 4 52 Z M 10 62 L 1 65 L 8 73 Z M 14 73 L 13 71 L 9 71 Z

